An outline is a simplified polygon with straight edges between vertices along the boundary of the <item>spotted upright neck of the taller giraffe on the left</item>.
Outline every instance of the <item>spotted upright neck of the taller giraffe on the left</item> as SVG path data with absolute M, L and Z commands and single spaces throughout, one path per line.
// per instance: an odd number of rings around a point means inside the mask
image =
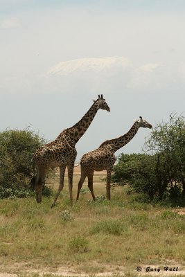
M 94 119 L 94 116 L 96 116 L 97 111 L 98 108 L 96 107 L 96 102 L 94 102 L 85 116 L 83 116 L 80 121 L 78 121 L 78 123 L 60 133 L 57 140 L 62 139 L 63 134 L 65 134 L 73 140 L 74 144 L 76 144 L 88 129 L 89 125 Z

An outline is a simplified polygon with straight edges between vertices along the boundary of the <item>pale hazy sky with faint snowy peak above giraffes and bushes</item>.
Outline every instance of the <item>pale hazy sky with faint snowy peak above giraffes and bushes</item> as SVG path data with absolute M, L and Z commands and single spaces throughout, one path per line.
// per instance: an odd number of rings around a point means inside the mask
M 0 131 L 47 141 L 103 93 L 76 145 L 77 161 L 143 116 L 152 125 L 185 111 L 184 0 L 0 0 Z M 141 152 L 150 129 L 116 152 Z

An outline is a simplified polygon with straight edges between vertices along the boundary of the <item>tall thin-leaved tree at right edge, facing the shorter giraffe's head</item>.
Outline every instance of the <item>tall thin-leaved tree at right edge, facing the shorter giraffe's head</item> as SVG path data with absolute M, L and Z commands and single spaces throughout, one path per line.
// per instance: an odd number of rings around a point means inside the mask
M 144 148 L 157 154 L 157 175 L 160 198 L 166 188 L 175 193 L 179 188 L 185 195 L 185 121 L 184 117 L 170 114 L 167 123 L 154 127 Z M 169 188 L 170 186 L 170 188 Z

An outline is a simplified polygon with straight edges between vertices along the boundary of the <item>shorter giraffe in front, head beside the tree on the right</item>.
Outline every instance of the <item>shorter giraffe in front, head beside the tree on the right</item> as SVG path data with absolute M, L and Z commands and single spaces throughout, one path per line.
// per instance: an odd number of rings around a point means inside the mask
M 110 200 L 110 186 L 111 186 L 111 173 L 114 163 L 116 161 L 116 156 L 114 153 L 123 148 L 127 143 L 129 143 L 136 132 L 140 127 L 143 128 L 152 128 L 152 125 L 148 123 L 146 120 L 143 120 L 141 116 L 139 116 L 139 120 L 136 120 L 132 125 L 130 130 L 116 139 L 110 139 L 108 141 L 104 141 L 99 148 L 94 151 L 88 152 L 82 156 L 80 160 L 81 167 L 81 176 L 80 181 L 78 182 L 78 193 L 76 200 L 78 201 L 80 195 L 80 189 L 82 188 L 82 184 L 85 181 L 85 178 L 88 178 L 88 187 L 91 191 L 92 198 L 95 200 L 94 190 L 93 190 L 93 176 L 94 171 L 107 170 L 107 199 Z

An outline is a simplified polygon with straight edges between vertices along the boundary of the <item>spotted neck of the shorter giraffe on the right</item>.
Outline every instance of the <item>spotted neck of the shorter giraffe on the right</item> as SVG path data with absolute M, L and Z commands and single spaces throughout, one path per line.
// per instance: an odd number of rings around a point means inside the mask
M 123 148 L 123 146 L 125 146 L 134 138 L 138 129 L 139 129 L 139 125 L 137 122 L 135 122 L 126 134 L 123 134 L 123 136 L 119 136 L 116 139 L 110 139 L 108 141 L 104 141 L 104 143 L 102 143 L 100 147 L 104 145 L 111 145 L 112 150 L 116 152 L 118 149 Z

